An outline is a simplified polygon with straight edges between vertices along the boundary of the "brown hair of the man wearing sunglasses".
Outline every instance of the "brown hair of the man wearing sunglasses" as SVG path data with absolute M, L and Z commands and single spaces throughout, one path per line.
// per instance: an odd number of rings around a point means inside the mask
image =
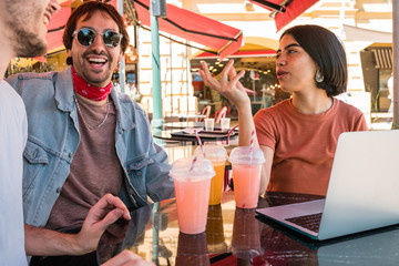
M 72 48 L 73 32 L 76 29 L 78 20 L 83 16 L 85 16 L 84 21 L 89 20 L 95 11 L 101 11 L 110 16 L 115 21 L 115 23 L 119 27 L 120 33 L 122 33 L 123 35 L 120 45 L 122 48 L 122 52 L 124 53 L 129 45 L 129 34 L 123 18 L 113 6 L 101 1 L 88 1 L 82 3 L 79 8 L 76 8 L 75 11 L 73 11 L 71 17 L 68 19 L 68 22 L 65 24 L 65 31 L 62 38 L 63 44 L 66 48 L 66 50 L 71 50 Z M 72 64 L 72 58 L 69 57 L 66 59 L 66 64 Z

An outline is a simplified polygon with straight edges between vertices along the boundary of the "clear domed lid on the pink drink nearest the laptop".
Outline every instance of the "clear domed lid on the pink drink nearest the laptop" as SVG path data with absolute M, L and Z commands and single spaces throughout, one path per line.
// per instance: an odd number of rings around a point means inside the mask
M 233 149 L 228 161 L 232 164 L 263 164 L 266 162 L 260 147 L 238 146 Z

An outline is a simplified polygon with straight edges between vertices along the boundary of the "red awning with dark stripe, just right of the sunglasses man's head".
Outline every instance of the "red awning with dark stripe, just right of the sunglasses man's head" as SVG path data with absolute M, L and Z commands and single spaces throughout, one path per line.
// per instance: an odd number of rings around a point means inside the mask
M 150 0 L 134 0 L 142 24 L 151 27 Z M 192 11 L 166 4 L 166 18 L 158 19 L 160 31 L 193 41 L 215 50 L 226 58 L 243 44 L 243 32 Z

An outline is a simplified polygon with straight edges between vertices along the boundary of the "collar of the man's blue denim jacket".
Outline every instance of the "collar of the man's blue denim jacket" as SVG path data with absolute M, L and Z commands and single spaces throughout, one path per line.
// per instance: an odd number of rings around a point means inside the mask
M 59 78 L 55 80 L 55 101 L 58 109 L 63 112 L 74 112 L 73 90 L 71 90 L 73 88 L 71 66 L 58 75 Z M 133 117 L 123 115 L 123 106 L 121 105 L 123 96 L 121 99 L 119 98 L 115 86 L 112 86 L 111 98 L 116 111 L 116 131 L 134 129 L 135 123 L 132 120 Z

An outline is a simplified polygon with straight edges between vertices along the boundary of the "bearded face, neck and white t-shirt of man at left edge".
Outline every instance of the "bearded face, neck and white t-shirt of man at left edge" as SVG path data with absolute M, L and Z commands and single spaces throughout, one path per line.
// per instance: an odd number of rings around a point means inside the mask
M 55 0 L 0 1 L 0 75 L 16 57 L 45 52 L 45 25 L 57 12 Z M 29 38 L 28 38 L 29 35 Z M 27 41 L 29 39 L 29 41 Z M 0 84 L 0 258 L 1 265 L 27 265 L 22 212 L 22 153 L 27 116 L 18 94 Z

